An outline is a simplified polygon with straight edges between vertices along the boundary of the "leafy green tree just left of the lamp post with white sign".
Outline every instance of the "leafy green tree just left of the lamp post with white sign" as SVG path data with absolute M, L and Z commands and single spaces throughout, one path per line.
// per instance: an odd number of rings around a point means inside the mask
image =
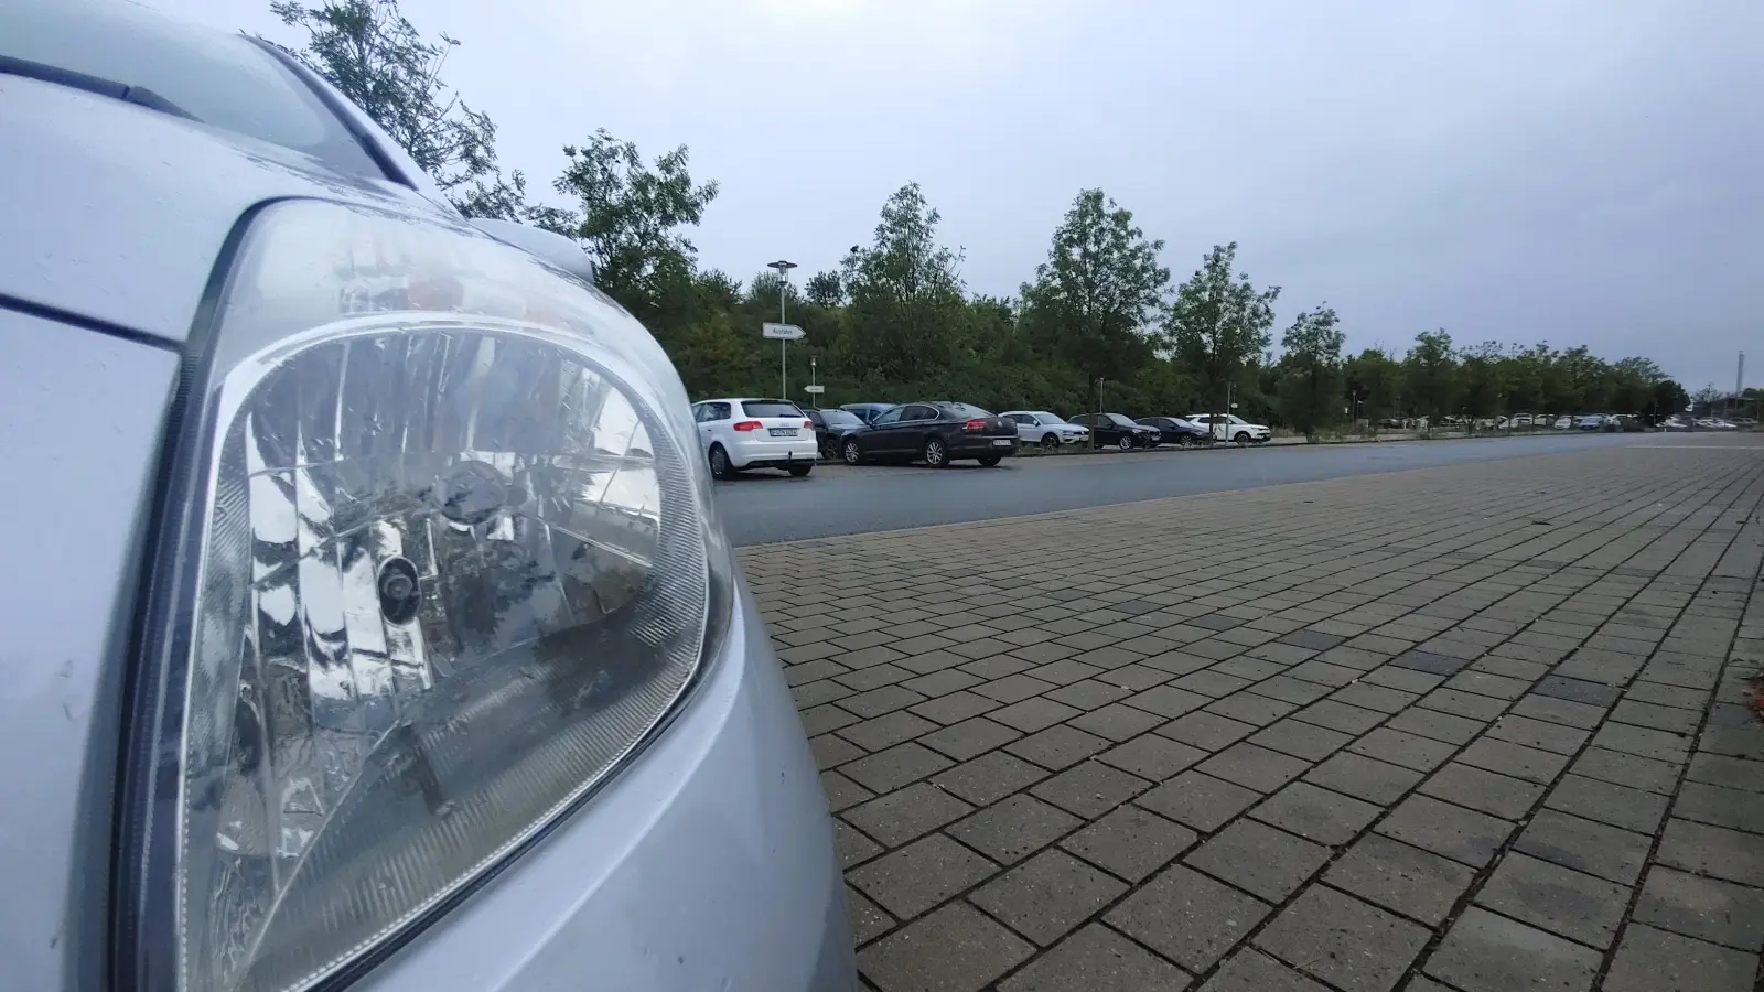
M 691 182 L 684 145 L 651 164 L 605 129 L 563 154 L 568 164 L 552 185 L 579 212 L 550 210 L 542 226 L 577 238 L 594 259 L 594 282 L 628 311 L 667 314 L 669 295 L 691 289 L 697 249 L 684 228 L 704 219 L 716 182 Z

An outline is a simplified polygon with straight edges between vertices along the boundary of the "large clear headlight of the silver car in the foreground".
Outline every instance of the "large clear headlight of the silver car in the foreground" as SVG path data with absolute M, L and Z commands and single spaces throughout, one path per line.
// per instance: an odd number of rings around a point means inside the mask
M 727 628 L 732 558 L 656 342 L 475 231 L 265 208 L 185 395 L 131 717 L 122 969 L 309 988 L 665 722 Z

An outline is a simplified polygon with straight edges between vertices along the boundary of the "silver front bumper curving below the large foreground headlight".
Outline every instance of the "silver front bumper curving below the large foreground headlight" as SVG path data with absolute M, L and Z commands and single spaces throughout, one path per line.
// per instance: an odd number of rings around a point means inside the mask
M 852 992 L 833 821 L 759 609 L 602 793 L 353 987 Z

